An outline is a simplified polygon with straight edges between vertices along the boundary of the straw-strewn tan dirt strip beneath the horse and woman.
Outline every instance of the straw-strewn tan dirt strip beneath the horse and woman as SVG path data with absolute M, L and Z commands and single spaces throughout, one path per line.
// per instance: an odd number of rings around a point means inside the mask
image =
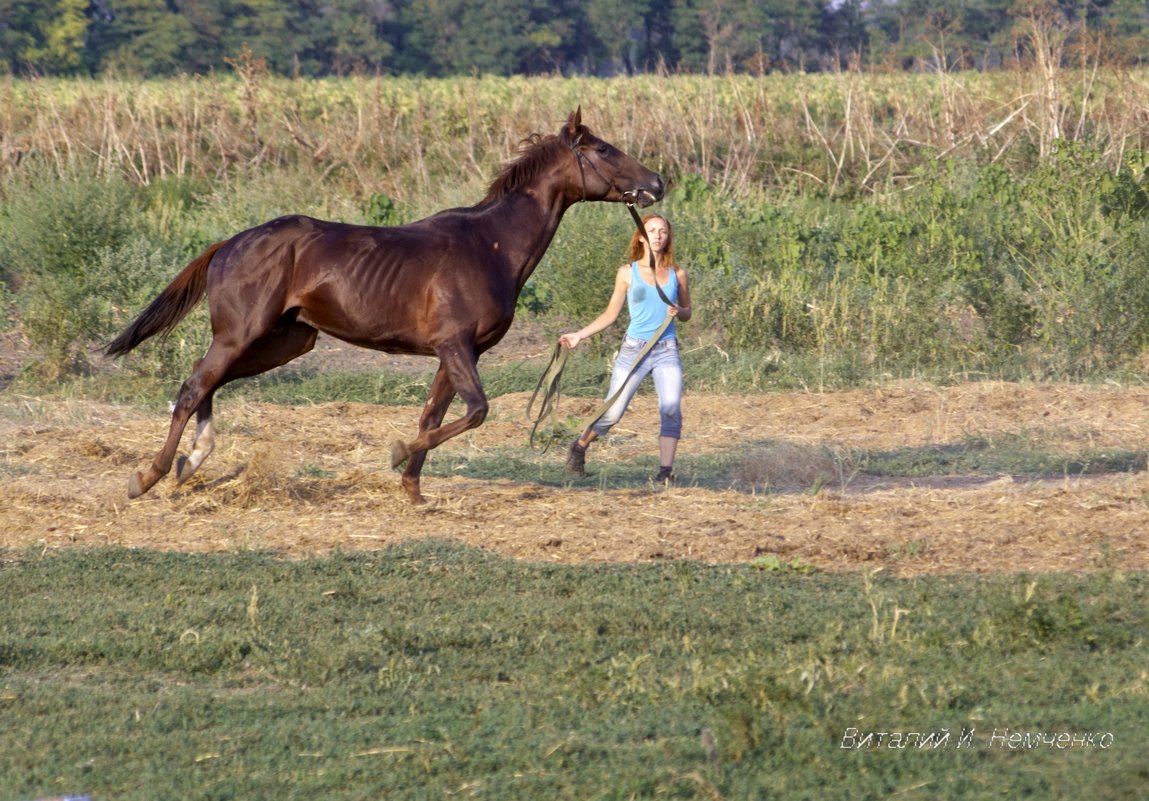
M 321 357 L 340 353 L 329 346 Z M 680 449 L 687 467 L 669 488 L 594 476 L 564 482 L 562 448 L 525 449 L 526 400 L 493 399 L 487 422 L 433 452 L 429 465 L 450 470 L 475 456 L 525 454 L 537 480 L 425 475 L 430 502 L 414 507 L 388 456 L 393 440 L 414 436 L 416 407 L 217 403 L 216 452 L 199 473 L 184 486 L 169 477 L 129 501 L 129 473 L 160 447 L 165 409 L 7 390 L 0 546 L 270 549 L 295 557 L 440 537 L 554 562 L 777 557 L 771 563 L 896 576 L 1149 568 L 1143 470 L 911 480 L 866 476 L 849 459 L 1019 433 L 1066 453 L 1143 450 L 1147 387 L 894 384 L 688 394 Z M 596 399 L 564 396 L 561 413 L 578 418 L 594 406 Z M 656 430 L 654 399 L 640 395 L 609 440 L 592 448 L 588 469 L 609 473 L 649 459 Z

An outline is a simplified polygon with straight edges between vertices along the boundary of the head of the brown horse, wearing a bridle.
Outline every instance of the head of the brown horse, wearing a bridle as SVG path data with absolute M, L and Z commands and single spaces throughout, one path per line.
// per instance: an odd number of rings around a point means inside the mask
M 583 124 L 581 106 L 566 120 L 558 139 L 574 154 L 583 200 L 610 200 L 646 208 L 666 193 L 661 175 L 591 133 Z

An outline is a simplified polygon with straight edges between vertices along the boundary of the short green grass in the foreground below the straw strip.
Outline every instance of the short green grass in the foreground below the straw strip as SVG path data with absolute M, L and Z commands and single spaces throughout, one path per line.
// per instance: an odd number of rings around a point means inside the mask
M 1149 781 L 1141 573 L 560 567 L 425 541 L 300 562 L 8 552 L 0 578 L 3 801 L 1128 799 Z M 1007 730 L 1111 740 L 1019 748 Z M 889 747 L 909 732 L 949 739 Z

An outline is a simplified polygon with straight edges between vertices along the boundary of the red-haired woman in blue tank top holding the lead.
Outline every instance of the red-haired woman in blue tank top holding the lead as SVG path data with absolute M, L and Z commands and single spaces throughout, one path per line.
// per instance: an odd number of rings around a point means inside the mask
M 566 455 L 566 472 L 581 476 L 586 471 L 586 448 L 595 439 L 614 428 L 626 411 L 627 405 L 638 392 L 642 379 L 648 375 L 654 377 L 654 387 L 658 393 L 658 414 L 662 425 L 658 432 L 660 470 L 655 480 L 670 483 L 674 480 L 674 454 L 683 431 L 683 363 L 678 357 L 678 339 L 674 334 L 674 322 L 686 322 L 691 318 L 691 292 L 686 284 L 686 270 L 674 262 L 673 237 L 670 223 L 660 215 L 648 215 L 642 219 L 646 238 L 639 231 L 631 237 L 629 255 L 631 262 L 618 268 L 615 275 L 615 291 L 610 295 L 606 310 L 589 325 L 558 338 L 563 347 L 576 348 L 587 337 L 609 328 L 623 310 L 623 303 L 630 311 L 630 325 L 626 337 L 615 360 L 615 369 L 610 377 L 610 398 L 623 387 L 618 398 L 596 422 L 571 442 Z M 648 244 L 649 241 L 649 244 Z M 650 270 L 650 254 L 654 254 L 654 271 Z M 663 301 L 655 283 L 662 287 L 670 306 Z M 666 317 L 669 325 L 658 337 L 650 352 L 634 367 L 640 351 L 653 339 Z M 627 377 L 630 373 L 630 377 Z M 625 383 L 625 386 L 624 386 Z

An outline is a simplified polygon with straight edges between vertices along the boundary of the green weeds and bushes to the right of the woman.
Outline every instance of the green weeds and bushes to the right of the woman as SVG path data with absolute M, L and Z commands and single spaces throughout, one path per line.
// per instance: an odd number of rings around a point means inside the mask
M 864 372 L 1118 370 L 1149 344 L 1149 215 L 1138 177 L 1097 161 L 1065 144 L 1020 176 L 942 163 L 834 203 L 684 182 L 666 207 L 700 337 Z

